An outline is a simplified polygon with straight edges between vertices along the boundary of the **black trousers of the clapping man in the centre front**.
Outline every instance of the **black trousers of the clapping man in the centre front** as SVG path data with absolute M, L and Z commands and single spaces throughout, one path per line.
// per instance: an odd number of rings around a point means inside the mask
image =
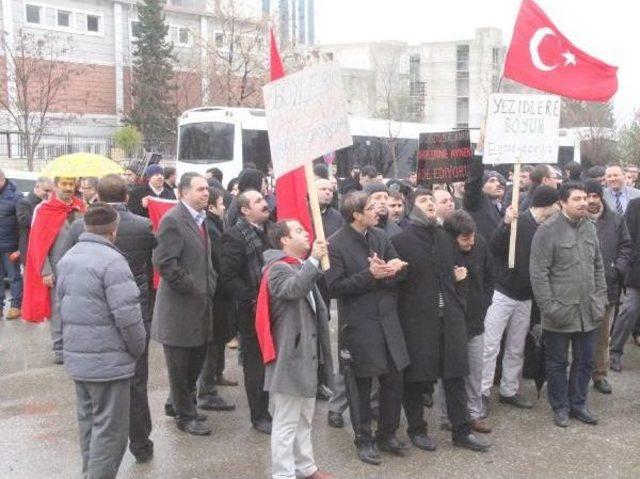
M 402 373 L 389 362 L 391 371 L 382 376 L 377 376 L 380 383 L 380 417 L 376 437 L 386 439 L 393 436 L 400 425 L 400 409 L 402 407 Z M 347 375 L 352 372 L 345 371 Z M 373 443 L 371 431 L 371 384 L 373 377 L 345 378 L 347 388 L 355 384 L 356 394 L 347 393 L 349 398 L 349 411 L 355 433 L 357 447 Z M 355 396 L 355 397 L 354 397 Z M 358 408 L 354 411 L 354 408 Z M 355 420 L 354 420 L 355 418 Z

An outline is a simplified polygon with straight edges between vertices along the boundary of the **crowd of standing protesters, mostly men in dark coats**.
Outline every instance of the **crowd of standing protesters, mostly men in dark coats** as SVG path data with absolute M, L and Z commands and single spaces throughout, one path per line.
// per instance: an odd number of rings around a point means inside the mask
M 370 165 L 339 181 L 325 164 L 315 173 L 327 241 L 298 218 L 276 221 L 272 182 L 251 165 L 226 189 L 216 168 L 178 180 L 150 165 L 142 182 L 132 170 L 40 178 L 24 197 L 0 172 L 6 319 L 50 320 L 54 362 L 75 382 L 84 477 L 115 477 L 127 445 L 153 458 L 150 338 L 166 361 L 164 414 L 197 436 L 211 434 L 199 410 L 235 408 L 219 387 L 238 384 L 224 375 L 237 340 L 274 478 L 334 477 L 314 460 L 317 399 L 333 428 L 348 409 L 357 457 L 372 465 L 406 455 L 402 411 L 411 444 L 436 450 L 431 406 L 454 446 L 488 450 L 494 385 L 504 407 L 534 407 L 523 369 L 546 379 L 558 427 L 597 424 L 590 382 L 610 394 L 629 337 L 640 346 L 637 167 L 523 166 L 517 209 L 512 181 L 480 157 L 449 185 L 385 181 Z M 155 232 L 152 197 L 176 202 Z

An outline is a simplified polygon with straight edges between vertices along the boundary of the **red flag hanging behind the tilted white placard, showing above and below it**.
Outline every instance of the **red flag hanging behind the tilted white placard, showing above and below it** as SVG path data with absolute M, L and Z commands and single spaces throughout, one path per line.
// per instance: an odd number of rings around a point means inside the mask
M 271 81 L 285 75 L 276 39 L 271 30 Z M 293 170 L 276 180 L 276 210 L 278 219 L 296 219 L 309 232 L 313 241 L 313 224 L 307 202 L 307 182 L 304 167 Z

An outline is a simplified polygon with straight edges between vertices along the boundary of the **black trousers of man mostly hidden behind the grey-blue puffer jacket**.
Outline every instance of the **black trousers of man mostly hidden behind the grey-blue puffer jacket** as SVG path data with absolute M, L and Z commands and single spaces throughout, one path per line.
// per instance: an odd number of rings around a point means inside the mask
M 147 396 L 147 381 L 149 378 L 149 323 L 145 322 L 147 330 L 147 346 L 144 354 L 136 362 L 136 370 L 131 378 L 131 395 L 129 400 L 129 450 L 134 456 L 153 452 L 151 435 L 151 412 Z

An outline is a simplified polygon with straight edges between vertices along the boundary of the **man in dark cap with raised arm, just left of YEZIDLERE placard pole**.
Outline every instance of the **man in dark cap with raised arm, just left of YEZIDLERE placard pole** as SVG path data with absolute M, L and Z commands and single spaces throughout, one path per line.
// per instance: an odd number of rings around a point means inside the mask
M 485 171 L 481 156 L 474 156 L 464 186 L 463 208 L 483 238 L 491 238 L 504 216 L 502 197 L 506 181 L 497 171 Z

